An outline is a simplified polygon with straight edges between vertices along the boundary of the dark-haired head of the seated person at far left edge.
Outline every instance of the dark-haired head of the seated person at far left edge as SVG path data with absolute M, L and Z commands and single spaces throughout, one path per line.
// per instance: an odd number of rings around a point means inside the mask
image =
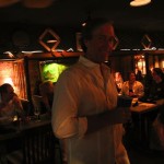
M 14 89 L 11 84 L 4 83 L 0 86 L 1 101 L 9 102 L 15 95 Z

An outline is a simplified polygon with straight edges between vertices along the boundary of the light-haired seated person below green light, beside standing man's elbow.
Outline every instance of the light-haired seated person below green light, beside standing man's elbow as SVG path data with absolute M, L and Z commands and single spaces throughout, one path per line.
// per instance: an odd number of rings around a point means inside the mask
M 51 81 L 45 81 L 39 84 L 39 93 L 42 96 L 43 105 L 45 106 L 46 109 L 45 112 L 51 112 L 54 89 L 55 84 Z

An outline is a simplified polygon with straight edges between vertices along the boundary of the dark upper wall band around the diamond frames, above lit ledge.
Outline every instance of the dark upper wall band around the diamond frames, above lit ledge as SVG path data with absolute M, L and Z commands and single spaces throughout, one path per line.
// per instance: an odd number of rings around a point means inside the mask
M 28 24 L 2 24 L 0 26 L 0 54 L 7 50 L 17 52 L 20 50 L 36 50 L 42 49 L 47 51 L 38 42 L 39 36 L 46 28 L 51 28 L 61 39 L 57 48 L 69 49 L 73 48 L 77 51 L 75 34 L 80 32 L 80 27 L 71 26 L 40 26 Z M 17 33 L 22 33 L 17 35 Z M 142 49 L 141 40 L 144 35 L 148 35 L 152 40 L 151 47 L 164 48 L 164 32 L 144 32 L 138 30 L 120 30 L 116 27 L 116 36 L 119 44 L 116 50 L 119 49 Z M 22 43 L 22 45 L 19 44 Z

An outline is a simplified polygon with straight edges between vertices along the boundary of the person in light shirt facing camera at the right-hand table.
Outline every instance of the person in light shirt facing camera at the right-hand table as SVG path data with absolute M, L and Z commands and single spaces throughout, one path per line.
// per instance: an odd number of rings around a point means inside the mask
M 121 95 L 127 95 L 130 97 L 142 97 L 144 94 L 143 84 L 136 80 L 134 72 L 128 73 L 128 81 L 125 81 L 120 91 Z

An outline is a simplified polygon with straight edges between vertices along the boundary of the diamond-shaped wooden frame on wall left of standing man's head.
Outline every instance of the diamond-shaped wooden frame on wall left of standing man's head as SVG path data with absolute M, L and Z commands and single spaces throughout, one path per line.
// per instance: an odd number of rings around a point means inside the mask
M 60 37 L 50 28 L 45 30 L 45 32 L 39 36 L 39 44 L 48 51 L 55 51 L 59 43 Z

